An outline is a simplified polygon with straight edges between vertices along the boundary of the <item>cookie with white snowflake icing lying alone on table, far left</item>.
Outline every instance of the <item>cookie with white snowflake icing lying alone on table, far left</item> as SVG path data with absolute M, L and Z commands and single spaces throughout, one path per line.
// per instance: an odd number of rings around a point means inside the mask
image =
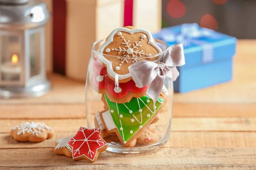
M 41 122 L 24 122 L 10 131 L 10 136 L 20 142 L 42 142 L 53 137 L 53 130 Z

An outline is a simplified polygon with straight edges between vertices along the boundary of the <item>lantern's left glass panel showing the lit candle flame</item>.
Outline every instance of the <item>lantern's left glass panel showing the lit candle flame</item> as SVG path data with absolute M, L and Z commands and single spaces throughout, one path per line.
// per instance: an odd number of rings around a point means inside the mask
M 20 37 L 2 35 L 0 37 L 0 79 L 1 81 L 19 81 L 21 74 Z

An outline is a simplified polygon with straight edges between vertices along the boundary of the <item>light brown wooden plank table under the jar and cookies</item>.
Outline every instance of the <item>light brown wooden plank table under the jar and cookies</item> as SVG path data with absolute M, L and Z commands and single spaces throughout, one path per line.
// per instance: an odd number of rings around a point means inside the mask
M 239 40 L 232 82 L 175 94 L 170 141 L 151 153 L 104 152 L 91 164 L 53 153 L 55 141 L 86 124 L 84 83 L 52 75 L 46 96 L 0 100 L 0 169 L 256 169 L 256 41 Z M 16 142 L 11 127 L 41 121 L 55 130 L 41 143 Z

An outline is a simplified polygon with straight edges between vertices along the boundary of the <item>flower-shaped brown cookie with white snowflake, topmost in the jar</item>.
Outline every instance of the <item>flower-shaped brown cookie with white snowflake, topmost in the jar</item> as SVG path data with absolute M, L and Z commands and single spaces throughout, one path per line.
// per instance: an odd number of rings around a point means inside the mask
M 116 56 L 99 55 L 100 61 L 107 67 L 109 77 L 115 80 L 117 75 L 119 82 L 128 82 L 132 79 L 128 70 L 130 65 L 141 60 L 160 62 L 160 57 L 154 54 L 162 50 L 155 44 L 149 31 L 129 26 L 113 30 L 99 52 Z

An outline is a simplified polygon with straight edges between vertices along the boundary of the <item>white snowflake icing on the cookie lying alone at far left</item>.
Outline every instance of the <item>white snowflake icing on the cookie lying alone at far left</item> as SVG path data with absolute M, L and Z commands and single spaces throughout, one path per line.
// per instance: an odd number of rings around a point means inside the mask
M 52 130 L 51 127 L 48 127 L 47 125 L 41 122 L 37 122 L 37 123 L 24 122 L 24 123 L 21 123 L 19 126 L 15 126 L 12 128 L 12 130 L 15 130 L 15 129 L 19 130 L 17 132 L 17 135 L 32 132 L 32 135 L 35 135 L 35 136 L 38 136 L 41 133 L 40 131 L 44 132 L 45 129 Z

